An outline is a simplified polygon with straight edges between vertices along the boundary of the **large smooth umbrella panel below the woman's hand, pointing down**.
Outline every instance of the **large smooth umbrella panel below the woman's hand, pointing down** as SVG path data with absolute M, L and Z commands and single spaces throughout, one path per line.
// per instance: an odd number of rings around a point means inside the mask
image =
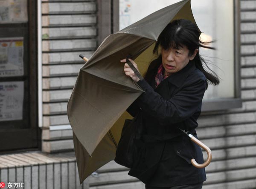
M 116 85 L 88 73 L 79 73 L 81 80 L 73 91 L 68 104 L 69 121 L 76 137 L 91 155 L 93 150 L 125 112 L 140 96 L 140 91 Z M 94 94 L 94 95 L 92 95 Z

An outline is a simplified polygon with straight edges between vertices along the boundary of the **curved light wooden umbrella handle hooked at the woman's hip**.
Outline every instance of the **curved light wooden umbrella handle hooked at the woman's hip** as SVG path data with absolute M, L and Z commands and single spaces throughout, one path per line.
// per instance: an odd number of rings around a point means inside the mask
M 206 146 L 204 143 L 202 143 L 200 140 L 198 140 L 196 137 L 192 136 L 191 137 L 191 140 L 196 143 L 198 146 L 201 146 L 206 152 L 207 152 L 207 160 L 202 163 L 202 164 L 199 164 L 195 161 L 195 159 L 191 159 L 191 163 L 193 166 L 195 166 L 196 168 L 204 168 L 206 166 L 209 165 L 209 163 L 211 162 L 212 160 L 212 152 L 211 152 L 211 149 L 209 149 L 208 146 Z

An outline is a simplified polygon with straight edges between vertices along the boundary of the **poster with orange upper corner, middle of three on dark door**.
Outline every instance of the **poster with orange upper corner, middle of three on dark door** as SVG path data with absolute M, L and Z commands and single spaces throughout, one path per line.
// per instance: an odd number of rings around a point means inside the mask
M 0 77 L 23 76 L 23 37 L 0 38 Z

